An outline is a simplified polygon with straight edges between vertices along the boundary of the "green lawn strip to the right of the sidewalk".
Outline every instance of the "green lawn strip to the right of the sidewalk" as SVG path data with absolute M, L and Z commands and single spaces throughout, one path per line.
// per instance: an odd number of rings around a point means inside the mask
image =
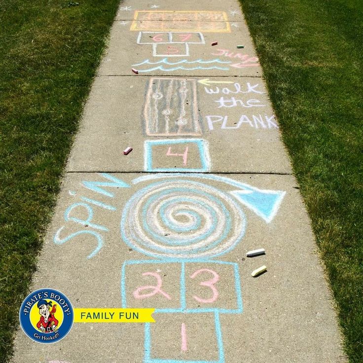
M 243 0 L 351 363 L 363 362 L 363 1 Z

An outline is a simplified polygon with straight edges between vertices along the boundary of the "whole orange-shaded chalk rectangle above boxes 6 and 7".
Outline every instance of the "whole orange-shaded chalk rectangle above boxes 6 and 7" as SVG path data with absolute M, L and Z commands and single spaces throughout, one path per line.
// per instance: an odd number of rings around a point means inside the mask
M 136 10 L 131 31 L 230 33 L 224 11 Z

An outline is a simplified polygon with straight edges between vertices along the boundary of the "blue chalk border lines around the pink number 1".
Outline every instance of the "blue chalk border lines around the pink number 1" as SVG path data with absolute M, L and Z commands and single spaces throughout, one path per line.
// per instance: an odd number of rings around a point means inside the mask
M 150 323 L 145 323 L 144 363 L 224 363 L 225 361 L 224 361 L 222 330 L 220 327 L 218 312 L 214 312 L 214 321 L 215 321 L 217 347 L 218 347 L 218 361 L 190 361 L 190 360 L 151 358 Z

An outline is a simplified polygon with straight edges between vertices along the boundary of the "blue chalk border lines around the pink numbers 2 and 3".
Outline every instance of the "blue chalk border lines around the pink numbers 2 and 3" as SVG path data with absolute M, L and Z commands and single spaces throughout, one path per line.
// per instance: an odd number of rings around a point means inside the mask
M 237 309 L 224 309 L 224 308 L 194 308 L 188 309 L 186 307 L 186 291 L 185 291 L 185 263 L 215 263 L 218 265 L 232 265 L 234 267 L 234 287 L 237 298 Z M 121 306 L 127 308 L 126 301 L 126 266 L 128 265 L 140 265 L 140 264 L 170 264 L 178 263 L 181 264 L 181 276 L 180 276 L 180 308 L 167 308 L 167 309 L 155 309 L 155 313 L 186 313 L 186 314 L 198 314 L 198 313 L 220 313 L 220 314 L 242 314 L 243 302 L 242 302 L 242 290 L 241 290 L 241 278 L 239 274 L 238 264 L 236 262 L 226 261 L 214 261 L 214 260 L 203 260 L 200 259 L 195 261 L 193 259 L 182 261 L 182 262 L 169 262 L 163 260 L 130 260 L 125 261 L 121 269 Z

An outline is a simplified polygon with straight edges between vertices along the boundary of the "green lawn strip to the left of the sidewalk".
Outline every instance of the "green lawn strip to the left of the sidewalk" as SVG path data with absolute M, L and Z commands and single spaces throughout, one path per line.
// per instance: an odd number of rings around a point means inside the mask
M 119 0 L 0 1 L 0 362 Z

